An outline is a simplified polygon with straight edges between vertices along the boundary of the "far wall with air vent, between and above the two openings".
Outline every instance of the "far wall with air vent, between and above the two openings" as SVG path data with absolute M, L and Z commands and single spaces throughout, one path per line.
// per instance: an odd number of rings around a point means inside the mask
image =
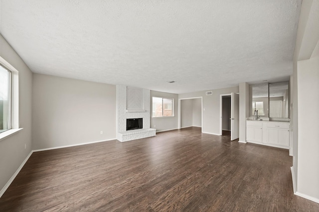
M 228 94 L 231 92 L 238 93 L 239 87 L 228 87 L 215 89 L 213 95 L 206 96 L 206 91 L 198 91 L 192 93 L 178 94 L 179 99 L 191 97 L 203 97 L 203 126 L 202 132 L 219 135 L 220 132 L 220 94 Z

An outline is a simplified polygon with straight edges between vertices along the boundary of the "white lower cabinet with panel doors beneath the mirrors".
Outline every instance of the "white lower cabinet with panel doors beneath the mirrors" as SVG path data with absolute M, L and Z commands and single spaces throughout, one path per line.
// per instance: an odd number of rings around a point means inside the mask
M 246 121 L 246 141 L 290 148 L 290 123 Z

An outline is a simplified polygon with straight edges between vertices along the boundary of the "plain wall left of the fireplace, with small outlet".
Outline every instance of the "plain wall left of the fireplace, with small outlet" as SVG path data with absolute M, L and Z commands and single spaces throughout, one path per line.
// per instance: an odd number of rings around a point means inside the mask
M 115 138 L 115 85 L 33 74 L 33 149 Z

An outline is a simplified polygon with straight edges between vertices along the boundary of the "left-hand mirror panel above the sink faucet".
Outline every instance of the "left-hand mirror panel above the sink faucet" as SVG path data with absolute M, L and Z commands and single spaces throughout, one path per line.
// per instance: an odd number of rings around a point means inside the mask
M 249 116 L 254 116 L 255 110 L 258 110 L 259 117 L 268 117 L 268 83 L 250 85 L 249 93 Z

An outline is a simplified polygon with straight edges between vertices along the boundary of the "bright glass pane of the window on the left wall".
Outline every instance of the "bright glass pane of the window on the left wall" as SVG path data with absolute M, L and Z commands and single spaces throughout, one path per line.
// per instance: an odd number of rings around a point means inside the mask
M 10 72 L 0 66 L 0 133 L 10 129 Z

